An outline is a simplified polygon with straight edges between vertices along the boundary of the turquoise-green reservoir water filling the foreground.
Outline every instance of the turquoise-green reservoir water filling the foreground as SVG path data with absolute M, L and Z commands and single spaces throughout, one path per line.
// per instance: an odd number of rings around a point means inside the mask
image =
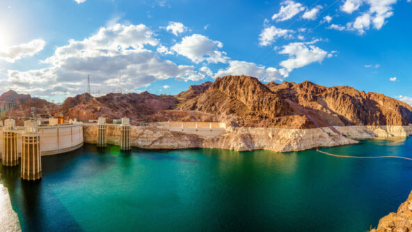
M 412 157 L 412 138 L 322 148 Z M 367 231 L 412 190 L 412 161 L 307 150 L 119 153 L 85 145 L 42 157 L 26 183 L 1 167 L 23 231 Z

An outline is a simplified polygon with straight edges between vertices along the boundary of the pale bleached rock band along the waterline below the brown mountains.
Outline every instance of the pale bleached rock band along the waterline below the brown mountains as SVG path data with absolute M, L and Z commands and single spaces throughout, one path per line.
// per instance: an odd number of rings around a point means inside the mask
M 216 137 L 203 137 L 189 132 L 168 130 L 164 126 L 132 126 L 132 146 L 147 149 L 222 148 L 230 150 L 273 150 L 288 152 L 307 150 L 318 146 L 356 144 L 354 139 L 388 139 L 407 137 L 411 126 L 347 126 L 313 129 L 268 127 L 228 127 Z M 107 141 L 118 145 L 120 127 L 107 126 Z M 84 125 L 84 141 L 96 144 L 97 125 Z

